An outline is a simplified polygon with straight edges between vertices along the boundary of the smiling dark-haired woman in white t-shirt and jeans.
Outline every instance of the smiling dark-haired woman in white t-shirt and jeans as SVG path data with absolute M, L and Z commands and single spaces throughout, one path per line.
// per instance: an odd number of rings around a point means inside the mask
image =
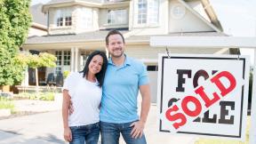
M 63 85 L 64 139 L 70 144 L 97 144 L 100 135 L 100 100 L 108 60 L 104 52 L 92 52 L 84 70 L 70 74 Z M 68 115 L 72 101 L 74 111 Z

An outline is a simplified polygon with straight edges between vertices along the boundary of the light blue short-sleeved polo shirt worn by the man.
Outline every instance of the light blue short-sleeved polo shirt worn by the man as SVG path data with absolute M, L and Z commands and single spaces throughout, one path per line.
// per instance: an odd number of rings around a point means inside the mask
M 139 119 L 137 96 L 139 86 L 148 84 L 145 65 L 125 56 L 123 66 L 116 66 L 111 59 L 102 88 L 100 121 L 128 123 Z

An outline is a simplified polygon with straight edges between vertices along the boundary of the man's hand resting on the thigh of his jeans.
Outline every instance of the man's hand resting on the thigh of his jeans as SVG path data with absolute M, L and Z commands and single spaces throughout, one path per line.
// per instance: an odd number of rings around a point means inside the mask
M 144 125 L 145 123 L 142 121 L 137 121 L 137 122 L 133 122 L 130 126 L 132 128 L 132 138 L 137 139 L 137 138 L 141 138 L 143 135 L 143 130 L 144 130 Z

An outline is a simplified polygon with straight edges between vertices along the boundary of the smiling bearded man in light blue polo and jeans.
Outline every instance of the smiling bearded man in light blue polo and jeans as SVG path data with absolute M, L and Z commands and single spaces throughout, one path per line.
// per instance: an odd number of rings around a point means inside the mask
M 124 36 L 112 30 L 106 36 L 111 58 L 103 84 L 100 108 L 102 144 L 118 144 L 120 133 L 128 144 L 146 144 L 143 129 L 150 108 L 147 69 L 138 60 L 124 54 Z M 142 97 L 140 117 L 137 95 Z

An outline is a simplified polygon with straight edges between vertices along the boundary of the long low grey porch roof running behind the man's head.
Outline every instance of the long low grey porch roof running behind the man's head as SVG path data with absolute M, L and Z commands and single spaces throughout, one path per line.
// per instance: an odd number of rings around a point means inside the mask
M 126 33 L 131 32 L 128 30 L 120 31 L 125 36 Z M 93 32 L 86 32 L 73 35 L 52 35 L 52 36 L 32 36 L 28 37 L 25 44 L 57 44 L 57 43 L 76 43 L 76 42 L 93 42 L 93 41 L 105 41 L 105 37 L 108 35 L 108 30 L 100 30 Z M 155 35 L 156 36 L 156 35 Z M 170 33 L 167 35 L 157 36 L 227 36 L 224 33 L 218 32 L 194 32 L 194 33 Z M 129 43 L 132 41 L 149 42 L 150 36 L 128 36 L 125 41 Z

